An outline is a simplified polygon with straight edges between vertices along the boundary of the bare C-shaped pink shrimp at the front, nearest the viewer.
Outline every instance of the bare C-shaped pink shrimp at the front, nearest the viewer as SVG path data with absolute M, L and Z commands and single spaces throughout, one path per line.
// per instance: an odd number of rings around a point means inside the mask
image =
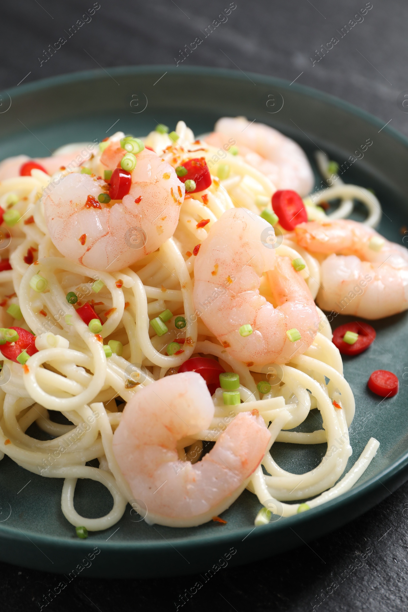
M 148 523 L 206 523 L 231 506 L 261 463 L 270 433 L 250 412 L 240 412 L 201 461 L 179 460 L 177 442 L 207 429 L 213 414 L 196 372 L 161 378 L 125 406 L 113 452 L 136 501 L 147 507 Z

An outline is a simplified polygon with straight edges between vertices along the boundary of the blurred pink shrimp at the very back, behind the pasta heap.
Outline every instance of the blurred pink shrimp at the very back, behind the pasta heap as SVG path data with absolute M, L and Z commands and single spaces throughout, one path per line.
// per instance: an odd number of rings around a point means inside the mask
M 215 132 L 206 142 L 222 147 L 234 138 L 245 162 L 265 174 L 276 189 L 293 189 L 301 196 L 310 193 L 314 176 L 310 163 L 291 138 L 262 123 L 250 123 L 245 117 L 218 119 Z

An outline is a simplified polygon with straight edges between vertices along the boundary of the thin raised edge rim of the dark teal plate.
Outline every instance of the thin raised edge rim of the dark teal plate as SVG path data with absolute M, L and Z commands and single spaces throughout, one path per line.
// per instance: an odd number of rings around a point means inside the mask
M 362 108 L 347 102 L 346 100 L 342 100 L 335 95 L 327 94 L 326 92 L 320 91 L 318 89 L 312 88 L 310 86 L 302 85 L 299 83 L 289 83 L 288 80 L 262 75 L 255 72 L 248 72 L 246 75 L 242 76 L 238 70 L 230 70 L 224 68 L 217 67 L 204 67 L 204 66 L 174 66 L 174 65 L 166 65 L 166 64 L 152 64 L 152 65 L 128 65 L 128 66 L 119 66 L 119 67 L 111 67 L 108 69 L 110 73 L 116 76 L 132 76 L 132 75 L 158 75 L 163 70 L 171 75 L 195 75 L 195 76 L 211 76 L 217 78 L 226 78 L 228 80 L 236 80 L 245 82 L 245 78 L 248 78 L 247 75 L 253 77 L 258 83 L 271 85 L 275 87 L 281 87 L 283 89 L 287 89 L 289 91 L 289 87 L 291 87 L 292 91 L 296 91 L 300 95 L 306 95 L 312 99 L 321 100 L 324 103 L 332 105 L 336 108 L 340 108 L 346 113 L 351 113 L 357 118 L 363 119 L 366 122 L 371 123 L 376 127 L 381 127 L 385 133 L 388 134 L 391 138 L 399 141 L 399 143 L 403 144 L 408 149 L 408 138 L 402 133 L 398 132 L 398 130 L 390 127 L 388 124 L 383 125 L 381 119 L 377 118 L 371 113 L 363 110 Z M 17 86 L 13 88 L 3 89 L 0 92 L 1 94 L 7 94 L 10 96 L 10 99 L 13 101 L 13 97 L 22 97 L 23 95 L 29 95 L 33 92 L 38 92 L 44 89 L 55 88 L 60 85 L 66 85 L 70 83 L 78 83 L 81 81 L 92 81 L 98 80 L 100 78 L 106 78 L 107 70 L 104 69 L 91 69 L 91 70 L 81 70 L 78 72 L 70 72 L 63 75 L 56 76 L 48 76 L 46 78 L 42 78 L 36 81 L 32 81 L 31 83 L 26 83 L 22 86 Z M 108 74 L 108 76 L 110 76 Z M 10 136 L 9 136 L 10 138 Z M 408 449 L 405 453 L 395 461 L 391 463 L 387 468 L 384 468 L 378 476 L 370 477 L 366 482 L 361 485 L 354 486 L 351 490 L 346 491 L 346 493 L 341 494 L 340 496 L 324 502 L 321 506 L 317 506 L 308 510 L 307 513 L 302 513 L 300 515 L 293 515 L 292 517 L 286 517 L 284 521 L 276 521 L 275 523 L 269 523 L 264 526 L 264 529 L 258 530 L 258 537 L 261 535 L 272 535 L 273 532 L 281 531 L 282 529 L 287 527 L 291 527 L 292 524 L 299 524 L 304 522 L 309 522 L 310 520 L 318 519 L 320 516 L 324 516 L 330 513 L 330 510 L 341 508 L 350 504 L 350 502 L 357 502 L 358 499 L 365 498 L 369 496 L 369 493 L 373 493 L 376 490 L 379 490 L 380 487 L 384 487 L 384 482 L 390 482 L 390 480 L 398 476 L 404 468 L 408 466 Z M 382 481 L 382 482 L 380 482 Z M 399 485 L 398 485 L 399 486 Z M 384 495 L 384 497 L 391 494 L 391 491 Z M 379 502 L 374 502 L 372 504 L 369 502 L 369 507 L 374 507 Z M 363 510 L 363 512 L 365 512 Z M 357 516 L 361 512 L 357 512 Z M 354 520 L 354 519 L 351 519 Z M 344 522 L 349 522 L 348 520 Z M 336 527 L 335 527 L 336 528 Z M 110 529 L 110 528 L 109 528 Z M 176 528 L 175 528 L 176 529 Z M 251 531 L 251 528 L 236 528 L 230 532 L 221 533 L 217 530 L 214 534 L 195 534 L 191 536 L 183 536 L 183 537 L 174 537 L 172 538 L 172 543 L 177 543 L 179 547 L 190 547 L 196 543 L 201 543 L 204 547 L 210 547 L 215 543 L 228 543 L 232 540 L 236 540 L 240 536 L 246 536 Z M 107 531 L 107 530 L 103 530 Z M 23 531 L 18 531 L 16 528 L 10 528 L 7 525 L 0 524 L 0 537 L 4 537 L 7 540 L 19 540 L 24 541 L 24 537 L 28 533 L 35 541 L 42 542 L 43 544 L 47 543 L 51 547 L 59 546 L 67 547 L 70 549 L 81 550 L 86 547 L 89 547 L 89 543 L 95 543 L 101 550 L 106 551 L 152 551 L 152 549 L 156 549 L 157 552 L 169 550 L 171 544 L 166 542 L 162 542 L 161 540 L 157 541 L 117 541 L 117 542 L 102 542 L 100 540 L 79 540 L 73 538 L 72 540 L 67 539 L 66 537 L 59 537 L 47 534 L 39 534 L 37 531 L 30 531 L 26 529 Z M 92 533 L 92 532 L 91 532 Z M 100 533 L 100 532 L 95 532 Z M 176 533 L 176 531 L 175 531 Z M 91 534 L 90 534 L 91 535 Z M 254 535 L 256 537 L 256 534 Z M 314 535 L 311 535 L 310 539 L 313 539 Z M 319 537 L 319 536 L 317 536 Z M 272 554 L 272 553 L 271 553 Z M 58 571 L 57 571 L 58 573 Z

